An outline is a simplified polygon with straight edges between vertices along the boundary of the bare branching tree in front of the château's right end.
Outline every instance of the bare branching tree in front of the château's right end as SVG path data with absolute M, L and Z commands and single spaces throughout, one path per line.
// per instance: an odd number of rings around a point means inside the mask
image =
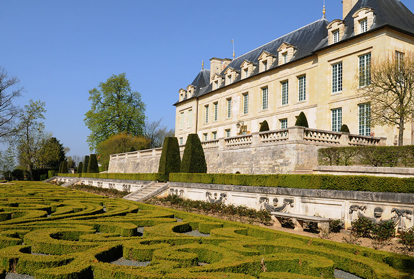
M 357 92 L 371 104 L 371 123 L 396 125 L 398 145 L 402 145 L 404 124 L 414 119 L 414 53 L 395 51 L 388 57 L 372 60 L 370 71 L 368 68 L 359 73 L 361 78 L 366 86 L 359 87 Z

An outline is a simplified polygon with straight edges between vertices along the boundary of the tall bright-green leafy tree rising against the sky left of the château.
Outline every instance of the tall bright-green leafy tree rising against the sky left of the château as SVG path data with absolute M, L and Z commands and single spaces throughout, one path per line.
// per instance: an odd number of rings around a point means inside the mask
M 131 89 L 125 73 L 112 75 L 89 90 L 89 100 L 91 109 L 84 121 L 90 130 L 87 142 L 91 151 L 114 134 L 143 134 L 145 104 L 141 94 Z

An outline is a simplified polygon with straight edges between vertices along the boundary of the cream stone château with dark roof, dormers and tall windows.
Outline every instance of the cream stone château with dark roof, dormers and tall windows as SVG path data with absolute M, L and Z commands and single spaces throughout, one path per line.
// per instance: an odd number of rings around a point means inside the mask
M 339 0 L 337 0 L 339 1 Z M 304 112 L 309 128 L 387 137 L 397 127 L 372 126 L 370 104 L 356 90 L 369 82 L 371 59 L 414 50 L 414 15 L 399 0 L 343 0 L 342 19 L 325 15 L 234 59 L 210 59 L 194 81 L 180 89 L 175 135 L 201 141 L 295 125 Z M 325 13 L 324 13 L 325 14 Z M 414 144 L 414 123 L 405 125 L 404 144 Z

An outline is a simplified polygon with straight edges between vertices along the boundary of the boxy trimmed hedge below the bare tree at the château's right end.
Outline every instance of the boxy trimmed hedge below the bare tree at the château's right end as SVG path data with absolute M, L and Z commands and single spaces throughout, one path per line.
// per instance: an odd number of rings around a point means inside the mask
M 320 165 L 414 167 L 414 146 L 329 147 L 318 150 Z

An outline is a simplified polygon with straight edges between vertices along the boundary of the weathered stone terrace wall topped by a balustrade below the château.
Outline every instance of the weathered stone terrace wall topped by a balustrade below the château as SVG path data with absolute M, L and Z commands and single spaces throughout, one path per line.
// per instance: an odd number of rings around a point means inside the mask
M 291 127 L 202 142 L 208 173 L 291 173 L 317 165 L 317 150 L 384 145 L 385 138 Z M 161 148 L 111 155 L 108 172 L 157 172 Z M 184 146 L 180 146 L 181 157 Z

